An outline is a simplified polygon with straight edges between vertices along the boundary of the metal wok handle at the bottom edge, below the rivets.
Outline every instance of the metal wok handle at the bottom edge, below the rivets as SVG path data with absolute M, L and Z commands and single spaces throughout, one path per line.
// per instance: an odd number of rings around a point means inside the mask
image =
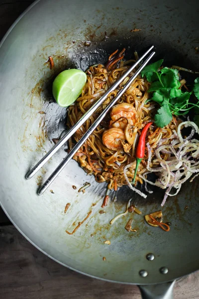
M 176 281 L 159 284 L 138 286 L 142 299 L 174 299 L 173 288 Z

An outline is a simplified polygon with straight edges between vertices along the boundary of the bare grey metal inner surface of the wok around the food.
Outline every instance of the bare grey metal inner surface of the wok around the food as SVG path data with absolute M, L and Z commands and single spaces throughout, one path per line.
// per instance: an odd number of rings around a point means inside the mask
M 25 173 L 53 146 L 52 139 L 65 130 L 67 111 L 52 98 L 55 76 L 69 67 L 86 70 L 103 63 L 117 48 L 125 47 L 128 59 L 134 50 L 140 54 L 152 44 L 157 53 L 154 60 L 164 58 L 167 65 L 175 62 L 199 69 L 196 5 L 196 1 L 181 1 L 179 9 L 175 0 L 161 4 L 109 0 L 108 5 L 105 0 L 58 0 L 56 4 L 42 0 L 32 5 L 1 44 L 1 204 L 28 240 L 63 265 L 100 279 L 134 284 L 169 281 L 199 269 L 197 179 L 184 184 L 162 208 L 164 222 L 172 223 L 168 233 L 148 226 L 143 217 L 160 210 L 162 190 L 155 189 L 143 199 L 123 187 L 118 201 L 111 201 L 100 214 L 105 185 L 86 175 L 74 160 L 53 182 L 51 192 L 37 196 L 38 185 L 66 156 L 64 149 L 35 177 L 25 180 Z M 135 28 L 141 30 L 131 32 Z M 85 41 L 91 41 L 91 46 L 85 47 Z M 55 62 L 52 70 L 48 56 Z M 85 182 L 91 187 L 78 193 Z M 130 214 L 109 225 L 117 213 L 125 211 L 131 197 L 143 212 L 132 215 L 136 233 L 124 229 Z M 67 203 L 71 206 L 65 214 Z M 90 210 L 88 221 L 73 236 L 66 234 Z M 105 240 L 111 244 L 104 244 Z M 146 259 L 148 253 L 155 255 L 153 261 Z M 163 266 L 169 269 L 166 275 L 159 272 Z M 148 272 L 146 278 L 139 276 L 142 269 Z

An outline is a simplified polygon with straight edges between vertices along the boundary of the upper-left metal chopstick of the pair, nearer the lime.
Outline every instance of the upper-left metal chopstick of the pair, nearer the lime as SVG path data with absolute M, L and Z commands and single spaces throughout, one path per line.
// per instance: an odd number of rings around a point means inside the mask
M 130 74 L 130 72 L 144 59 L 144 57 L 154 48 L 151 46 L 145 53 L 142 55 L 124 74 L 121 76 L 104 94 L 103 96 L 82 116 L 82 118 L 63 136 L 62 139 L 58 141 L 52 149 L 50 149 L 37 164 L 28 171 L 26 178 L 29 179 L 60 149 L 67 140 L 73 136 L 73 134 L 92 116 L 92 114 L 98 109 L 98 107 L 103 103 L 107 98 L 109 93 L 115 88 Z

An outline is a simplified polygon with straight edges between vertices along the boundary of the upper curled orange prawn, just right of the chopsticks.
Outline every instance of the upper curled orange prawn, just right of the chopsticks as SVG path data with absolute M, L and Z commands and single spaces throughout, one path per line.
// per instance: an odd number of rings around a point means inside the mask
M 135 108 L 128 103 L 122 103 L 114 106 L 110 113 L 112 122 L 110 122 L 112 127 L 124 129 L 128 124 L 131 126 L 138 122 L 137 111 Z

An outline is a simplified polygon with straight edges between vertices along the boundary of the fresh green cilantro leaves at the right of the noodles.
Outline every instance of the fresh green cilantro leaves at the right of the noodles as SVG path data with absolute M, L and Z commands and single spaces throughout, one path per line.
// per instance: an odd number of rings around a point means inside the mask
M 197 104 L 190 103 L 192 92 L 183 92 L 179 81 L 178 70 L 168 67 L 161 68 L 163 59 L 145 66 L 142 70 L 142 77 L 146 77 L 151 83 L 148 92 L 152 93 L 151 99 L 160 105 L 155 115 L 155 124 L 158 127 L 167 126 L 172 120 L 172 114 L 177 116 L 185 115 L 190 109 L 199 108 Z M 195 80 L 193 89 L 197 99 L 199 99 L 199 78 Z

